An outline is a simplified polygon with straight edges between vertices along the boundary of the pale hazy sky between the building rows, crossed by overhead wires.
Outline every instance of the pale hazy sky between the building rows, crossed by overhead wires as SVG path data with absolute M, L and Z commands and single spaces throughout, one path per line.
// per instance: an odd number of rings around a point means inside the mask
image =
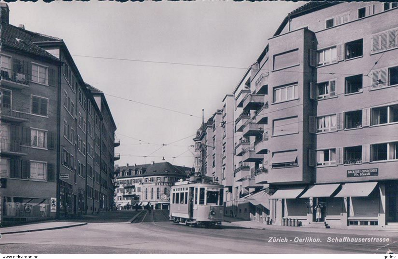
M 161 162 L 164 157 L 193 166 L 190 145 L 202 109 L 206 119 L 222 108 L 224 96 L 232 93 L 284 17 L 303 4 L 92 0 L 8 5 L 11 24 L 63 39 L 84 81 L 105 93 L 121 139 L 115 148 L 121 159 L 115 164 Z

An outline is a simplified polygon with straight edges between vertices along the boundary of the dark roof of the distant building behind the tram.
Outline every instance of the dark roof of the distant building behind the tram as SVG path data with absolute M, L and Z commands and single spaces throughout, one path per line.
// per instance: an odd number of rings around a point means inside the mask
M 129 170 L 143 170 L 144 172 L 140 175 L 130 175 L 130 176 L 119 176 L 117 178 L 129 178 L 134 176 L 144 177 L 144 176 L 187 176 L 185 171 L 191 171 L 192 168 L 185 166 L 174 166 L 169 162 L 160 162 L 154 164 L 137 164 L 133 166 L 119 166 L 117 168 L 118 172 L 124 172 Z

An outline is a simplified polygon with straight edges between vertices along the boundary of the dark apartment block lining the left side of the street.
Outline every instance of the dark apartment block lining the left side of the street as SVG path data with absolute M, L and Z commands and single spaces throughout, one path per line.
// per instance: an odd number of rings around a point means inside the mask
M 7 157 L 2 159 L 2 181 L 7 182 L 2 199 L 14 211 L 5 211 L 4 219 L 8 214 L 10 221 L 26 221 L 111 209 L 118 159 L 114 147 L 120 142 L 103 93 L 84 82 L 62 39 L 10 25 L 8 6 L 1 7 L 1 155 Z M 23 212 L 18 203 L 25 201 L 39 213 Z

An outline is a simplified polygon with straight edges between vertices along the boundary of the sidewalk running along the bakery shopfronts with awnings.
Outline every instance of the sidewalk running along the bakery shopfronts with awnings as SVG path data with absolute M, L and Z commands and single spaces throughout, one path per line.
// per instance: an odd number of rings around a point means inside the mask
M 385 230 L 369 230 L 369 229 L 339 229 L 339 228 L 306 228 L 303 226 L 279 226 L 279 225 L 265 225 L 258 221 L 242 220 L 239 218 L 230 218 L 224 216 L 225 226 L 238 226 L 242 228 L 253 228 L 262 230 L 277 230 L 277 231 L 297 231 L 297 232 L 312 232 L 312 233 L 328 233 L 328 234 L 354 234 L 354 235 L 369 235 L 369 236 L 384 236 L 384 237 L 396 237 L 397 232 L 389 232 Z

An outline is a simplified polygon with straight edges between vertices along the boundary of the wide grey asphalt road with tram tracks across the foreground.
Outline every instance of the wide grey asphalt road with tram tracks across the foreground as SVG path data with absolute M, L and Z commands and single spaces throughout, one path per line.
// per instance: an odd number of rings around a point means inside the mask
M 382 233 L 377 233 L 382 235 Z M 255 230 L 225 223 L 220 228 L 191 228 L 168 221 L 168 211 L 141 213 L 133 224 L 123 222 L 89 223 L 60 230 L 7 234 L 0 240 L 3 254 L 62 253 L 386 253 L 398 251 L 398 236 L 388 242 L 328 243 L 327 238 L 367 235 L 341 235 L 297 231 Z M 269 238 L 286 243 L 269 243 Z M 373 236 L 382 237 L 382 236 Z M 320 242 L 294 242 L 295 238 L 319 238 Z

